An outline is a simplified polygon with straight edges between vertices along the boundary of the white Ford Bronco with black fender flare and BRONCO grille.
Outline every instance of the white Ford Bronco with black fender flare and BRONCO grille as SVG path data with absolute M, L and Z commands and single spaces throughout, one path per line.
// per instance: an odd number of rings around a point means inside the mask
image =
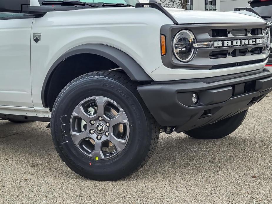
M 272 90 L 269 47 L 251 12 L 1 0 L 0 118 L 50 122 L 69 168 L 117 180 L 146 163 L 160 132 L 235 131 Z

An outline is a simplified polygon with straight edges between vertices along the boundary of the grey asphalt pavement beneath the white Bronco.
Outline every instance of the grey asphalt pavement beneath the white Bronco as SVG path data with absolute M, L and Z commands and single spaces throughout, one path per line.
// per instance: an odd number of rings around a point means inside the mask
M 112 182 L 71 171 L 48 123 L 0 121 L 0 203 L 272 203 L 271 103 L 272 94 L 219 140 L 161 134 L 141 170 Z

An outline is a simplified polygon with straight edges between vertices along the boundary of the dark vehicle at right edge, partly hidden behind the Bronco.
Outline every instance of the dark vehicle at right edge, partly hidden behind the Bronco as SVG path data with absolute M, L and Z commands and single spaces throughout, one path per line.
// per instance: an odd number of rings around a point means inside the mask
M 256 11 L 268 24 L 272 34 L 272 0 L 252 0 L 248 1 L 248 7 Z M 270 42 L 270 51 L 272 51 L 272 38 Z M 272 53 L 270 52 L 266 66 L 272 66 Z

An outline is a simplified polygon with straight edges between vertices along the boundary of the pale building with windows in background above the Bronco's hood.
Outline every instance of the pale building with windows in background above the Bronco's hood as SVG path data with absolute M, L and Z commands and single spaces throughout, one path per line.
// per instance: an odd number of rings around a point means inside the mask
M 148 2 L 148 0 L 139 0 L 140 2 Z M 181 8 L 173 5 L 173 2 L 180 0 L 161 0 L 162 4 L 174 8 Z M 187 10 L 199 11 L 233 11 L 234 8 L 248 6 L 248 0 L 187 0 Z

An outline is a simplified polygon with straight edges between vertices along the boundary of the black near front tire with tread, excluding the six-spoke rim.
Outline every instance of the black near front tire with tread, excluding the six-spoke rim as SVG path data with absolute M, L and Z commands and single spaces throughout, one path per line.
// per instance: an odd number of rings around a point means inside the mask
M 118 180 L 139 170 L 151 157 L 158 143 L 159 125 L 141 100 L 136 85 L 122 73 L 96 71 L 74 79 L 61 91 L 52 110 L 51 133 L 59 156 L 75 173 L 92 180 Z M 93 160 L 72 142 L 72 111 L 91 96 L 116 101 L 130 121 L 128 142 L 112 159 Z

